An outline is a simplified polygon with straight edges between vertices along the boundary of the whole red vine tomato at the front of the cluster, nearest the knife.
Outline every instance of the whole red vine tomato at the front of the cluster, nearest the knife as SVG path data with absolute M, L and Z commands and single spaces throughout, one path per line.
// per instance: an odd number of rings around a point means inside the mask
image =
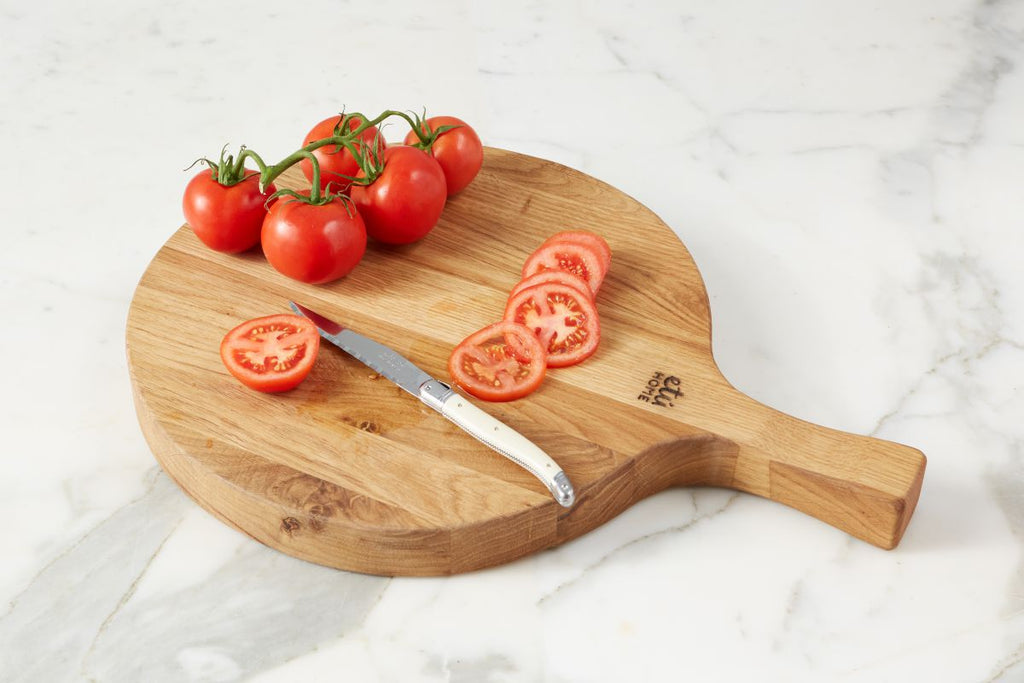
M 367 228 L 347 198 L 313 206 L 283 197 L 263 221 L 263 254 L 279 272 L 322 285 L 347 275 L 367 251 Z

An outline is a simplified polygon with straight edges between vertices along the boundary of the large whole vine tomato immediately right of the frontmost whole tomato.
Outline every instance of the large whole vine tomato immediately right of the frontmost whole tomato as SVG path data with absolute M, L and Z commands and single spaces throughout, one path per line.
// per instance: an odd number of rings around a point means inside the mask
M 402 144 L 385 150 L 383 172 L 369 185 L 352 185 L 351 195 L 370 237 L 389 245 L 410 244 L 430 232 L 447 197 L 437 162 Z

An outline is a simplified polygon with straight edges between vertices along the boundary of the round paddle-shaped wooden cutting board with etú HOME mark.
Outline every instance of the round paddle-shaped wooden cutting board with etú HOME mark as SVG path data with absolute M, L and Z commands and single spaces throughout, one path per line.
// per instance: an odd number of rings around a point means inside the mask
M 294 299 L 446 380 L 453 347 L 501 317 L 526 256 L 571 228 L 602 234 L 614 254 L 597 353 L 550 371 L 520 400 L 475 401 L 563 467 L 577 489 L 570 509 L 330 344 L 285 394 L 251 391 L 221 365 L 227 330 L 288 312 Z M 508 562 L 668 486 L 763 496 L 893 548 L 925 470 L 914 449 L 815 426 L 738 392 L 712 357 L 708 295 L 673 231 L 586 174 L 495 148 L 426 239 L 372 245 L 328 286 L 279 274 L 259 250 L 211 251 L 182 226 L 138 284 L 127 352 L 142 432 L 197 503 L 272 548 L 361 572 Z

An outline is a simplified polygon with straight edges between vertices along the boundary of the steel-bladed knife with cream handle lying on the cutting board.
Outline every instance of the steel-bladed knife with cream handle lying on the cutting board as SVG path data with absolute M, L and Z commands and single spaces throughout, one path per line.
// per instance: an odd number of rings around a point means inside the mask
M 391 380 L 434 409 L 463 431 L 494 449 L 536 476 L 548 487 L 558 504 L 571 507 L 575 493 L 562 468 L 536 443 L 478 409 L 444 382 L 417 368 L 409 358 L 384 344 L 352 332 L 319 313 L 289 301 L 292 309 L 316 326 L 321 337 L 356 360 Z

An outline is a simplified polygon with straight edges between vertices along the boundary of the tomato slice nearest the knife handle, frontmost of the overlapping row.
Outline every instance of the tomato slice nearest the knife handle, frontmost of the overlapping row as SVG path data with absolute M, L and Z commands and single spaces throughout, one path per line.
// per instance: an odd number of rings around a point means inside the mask
M 544 347 L 521 325 L 501 322 L 466 337 L 449 358 L 449 374 L 466 392 L 483 400 L 513 400 L 541 384 Z

